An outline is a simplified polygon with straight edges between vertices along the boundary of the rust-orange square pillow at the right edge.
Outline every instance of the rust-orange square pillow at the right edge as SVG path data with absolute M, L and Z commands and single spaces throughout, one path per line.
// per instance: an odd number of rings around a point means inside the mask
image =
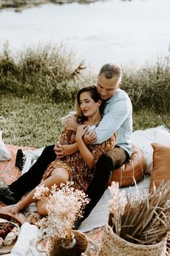
M 153 147 L 153 170 L 150 175 L 150 189 L 153 189 L 153 183 L 156 188 L 161 181 L 170 180 L 170 146 L 152 143 Z

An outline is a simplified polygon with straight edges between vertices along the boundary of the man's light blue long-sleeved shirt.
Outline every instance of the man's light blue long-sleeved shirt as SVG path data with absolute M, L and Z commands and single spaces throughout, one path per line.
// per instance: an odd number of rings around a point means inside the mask
M 94 126 L 90 127 L 90 130 Z M 95 144 L 101 144 L 116 132 L 116 146 L 126 150 L 129 156 L 132 154 L 132 103 L 129 96 L 122 89 L 106 101 L 103 118 L 95 127 L 97 140 Z

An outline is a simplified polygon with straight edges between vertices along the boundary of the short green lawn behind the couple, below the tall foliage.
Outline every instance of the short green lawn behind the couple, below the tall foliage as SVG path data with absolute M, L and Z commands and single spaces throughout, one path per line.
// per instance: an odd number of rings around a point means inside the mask
M 54 144 L 61 133 L 60 117 L 74 104 L 46 103 L 35 99 L 0 96 L 0 127 L 6 144 L 43 147 Z M 134 131 L 165 124 L 170 128 L 170 116 L 148 110 L 133 113 Z

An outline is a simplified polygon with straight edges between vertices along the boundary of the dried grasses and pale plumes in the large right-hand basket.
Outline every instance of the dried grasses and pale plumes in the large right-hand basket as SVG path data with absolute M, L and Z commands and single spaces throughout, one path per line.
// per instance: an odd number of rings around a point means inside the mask
M 170 186 L 161 184 L 152 194 L 137 190 L 130 199 L 119 190 L 118 183 L 109 187 L 109 226 L 114 233 L 135 244 L 157 244 L 170 231 Z

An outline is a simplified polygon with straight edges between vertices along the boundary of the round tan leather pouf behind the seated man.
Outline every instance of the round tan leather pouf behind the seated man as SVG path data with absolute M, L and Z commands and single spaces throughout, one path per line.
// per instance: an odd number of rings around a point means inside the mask
M 143 150 L 135 145 L 132 146 L 132 149 L 133 153 L 129 160 L 111 173 L 109 186 L 111 186 L 112 181 L 119 182 L 119 187 L 131 186 L 134 184 L 134 178 L 136 182 L 143 178 L 146 167 Z

